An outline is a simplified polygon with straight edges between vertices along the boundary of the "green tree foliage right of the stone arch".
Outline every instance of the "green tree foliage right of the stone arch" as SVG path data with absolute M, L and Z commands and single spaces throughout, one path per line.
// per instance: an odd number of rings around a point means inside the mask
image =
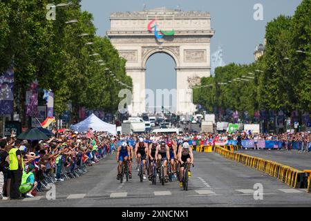
M 280 15 L 267 23 L 263 57 L 249 65 L 216 68 L 215 77 L 201 79 L 203 87 L 194 90 L 194 102 L 209 111 L 221 107 L 251 115 L 260 109 L 310 111 L 310 9 L 311 1 L 303 0 L 293 17 Z M 251 81 L 232 81 L 252 76 L 248 73 L 256 74 Z M 227 85 L 218 84 L 224 82 Z M 205 87 L 209 84 L 213 86 Z

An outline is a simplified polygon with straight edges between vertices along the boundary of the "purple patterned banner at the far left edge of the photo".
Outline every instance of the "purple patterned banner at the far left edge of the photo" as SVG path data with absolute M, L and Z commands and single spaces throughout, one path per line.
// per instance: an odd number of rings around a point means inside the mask
M 0 114 L 10 115 L 13 113 L 14 101 L 14 68 L 10 68 L 0 76 Z

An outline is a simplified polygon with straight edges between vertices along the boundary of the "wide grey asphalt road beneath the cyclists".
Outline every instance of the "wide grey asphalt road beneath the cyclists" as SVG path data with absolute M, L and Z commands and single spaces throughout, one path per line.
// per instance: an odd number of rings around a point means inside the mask
M 189 190 L 177 181 L 152 185 L 133 179 L 116 180 L 115 155 L 88 167 L 82 177 L 56 184 L 56 199 L 46 193 L 23 200 L 0 200 L 4 206 L 311 206 L 311 194 L 292 189 L 274 177 L 248 168 L 217 153 L 195 153 Z M 263 185 L 262 200 L 254 199 L 254 184 Z

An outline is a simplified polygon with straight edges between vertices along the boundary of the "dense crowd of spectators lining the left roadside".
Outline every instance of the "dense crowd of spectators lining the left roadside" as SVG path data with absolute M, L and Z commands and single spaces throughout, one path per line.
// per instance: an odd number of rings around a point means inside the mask
M 44 189 L 46 176 L 64 181 L 66 172 L 93 166 L 116 148 L 107 133 L 77 133 L 65 130 L 48 140 L 0 140 L 0 199 L 32 198 Z

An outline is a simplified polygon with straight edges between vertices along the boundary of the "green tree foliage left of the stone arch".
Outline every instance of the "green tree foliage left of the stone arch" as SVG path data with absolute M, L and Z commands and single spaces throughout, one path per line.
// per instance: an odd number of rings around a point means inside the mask
M 82 106 L 113 113 L 124 86 L 111 73 L 132 85 L 126 61 L 108 38 L 95 35 L 93 15 L 82 11 L 80 1 L 56 7 L 56 20 L 51 21 L 46 19 L 48 0 L 0 2 L 0 71 L 15 64 L 15 108 L 22 115 L 26 90 L 35 79 L 39 88 L 53 90 L 57 115 L 67 111 L 68 104 L 75 113 Z M 73 19 L 78 22 L 66 23 Z M 84 33 L 88 35 L 81 36 Z M 100 55 L 90 56 L 94 53 Z

